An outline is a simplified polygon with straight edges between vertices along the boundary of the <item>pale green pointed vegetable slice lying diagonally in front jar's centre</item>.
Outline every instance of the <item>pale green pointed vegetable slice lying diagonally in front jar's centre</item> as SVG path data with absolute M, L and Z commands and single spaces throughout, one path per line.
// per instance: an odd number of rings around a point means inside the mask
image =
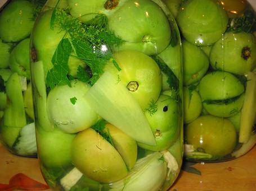
M 117 80 L 118 76 L 105 72 L 91 87 L 86 97 L 92 108 L 136 141 L 155 145 L 154 135 L 140 105 L 127 88 L 116 83 Z

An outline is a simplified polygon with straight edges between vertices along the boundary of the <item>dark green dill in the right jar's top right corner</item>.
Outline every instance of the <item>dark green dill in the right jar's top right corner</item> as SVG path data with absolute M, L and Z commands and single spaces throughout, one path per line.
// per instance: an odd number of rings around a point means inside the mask
M 256 30 L 255 13 L 251 8 L 245 11 L 244 15 L 238 18 L 230 18 L 227 31 L 232 32 L 253 32 Z

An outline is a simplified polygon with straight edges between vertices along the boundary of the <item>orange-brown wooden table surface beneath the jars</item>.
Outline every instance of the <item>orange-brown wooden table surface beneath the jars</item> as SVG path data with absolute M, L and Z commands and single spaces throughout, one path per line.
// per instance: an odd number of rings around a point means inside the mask
M 202 175 L 181 171 L 170 191 L 256 191 L 256 147 L 236 160 L 196 164 L 193 167 L 200 170 Z M 0 145 L 0 183 L 8 184 L 10 178 L 18 173 L 45 184 L 37 159 L 12 155 Z

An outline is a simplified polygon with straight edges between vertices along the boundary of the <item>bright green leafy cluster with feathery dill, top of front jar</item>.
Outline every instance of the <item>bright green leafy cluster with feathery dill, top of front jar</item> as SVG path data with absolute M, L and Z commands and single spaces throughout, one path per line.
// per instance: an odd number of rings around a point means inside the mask
M 78 18 L 70 16 L 68 10 L 55 8 L 51 21 L 51 26 L 57 26 L 69 33 L 74 56 L 84 60 L 91 69 L 92 77 L 89 82 L 92 85 L 104 72 L 107 62 L 113 62 L 118 70 L 121 69 L 112 57 L 111 47 L 122 44 L 123 40 L 107 30 L 105 15 L 99 14 L 88 24 L 83 24 Z

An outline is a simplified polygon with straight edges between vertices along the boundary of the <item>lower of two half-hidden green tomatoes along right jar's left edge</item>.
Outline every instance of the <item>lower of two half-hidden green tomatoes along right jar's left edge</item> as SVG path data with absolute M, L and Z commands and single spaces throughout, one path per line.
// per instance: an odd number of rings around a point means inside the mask
M 190 92 L 187 87 L 183 87 L 183 108 L 184 123 L 191 123 L 199 117 L 203 107 L 197 91 Z

